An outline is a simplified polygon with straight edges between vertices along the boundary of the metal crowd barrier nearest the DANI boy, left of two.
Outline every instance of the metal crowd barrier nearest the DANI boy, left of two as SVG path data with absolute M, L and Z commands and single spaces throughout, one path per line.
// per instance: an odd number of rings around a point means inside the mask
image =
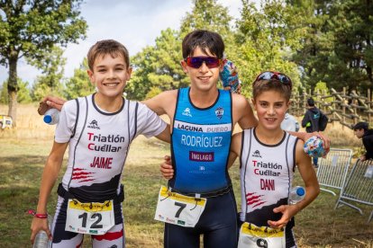
M 341 190 L 346 180 L 352 158 L 352 150 L 331 148 L 325 158 L 319 158 L 317 180 L 321 186 Z M 336 196 L 332 190 L 324 190 Z

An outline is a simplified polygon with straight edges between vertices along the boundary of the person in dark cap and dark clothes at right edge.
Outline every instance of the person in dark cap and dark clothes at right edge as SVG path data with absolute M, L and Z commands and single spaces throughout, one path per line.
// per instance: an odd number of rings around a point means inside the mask
M 359 157 L 361 161 L 373 159 L 373 129 L 368 128 L 368 122 L 358 122 L 353 127 L 356 137 L 362 138 L 363 145 L 367 150 L 365 155 Z

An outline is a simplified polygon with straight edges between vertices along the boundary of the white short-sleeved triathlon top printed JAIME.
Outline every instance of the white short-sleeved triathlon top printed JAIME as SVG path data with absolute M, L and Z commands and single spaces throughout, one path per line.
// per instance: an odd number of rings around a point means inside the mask
M 55 141 L 69 142 L 62 186 L 65 190 L 84 190 L 88 195 L 97 191 L 119 193 L 132 139 L 140 134 L 157 136 L 167 124 L 140 102 L 123 99 L 119 111 L 102 111 L 94 95 L 78 98 L 78 108 L 76 100 L 66 102 L 59 114 Z

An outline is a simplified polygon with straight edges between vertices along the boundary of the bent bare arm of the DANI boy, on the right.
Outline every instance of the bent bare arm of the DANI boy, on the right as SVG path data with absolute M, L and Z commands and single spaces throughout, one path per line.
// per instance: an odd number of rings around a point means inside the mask
M 268 225 L 271 227 L 279 228 L 286 226 L 287 222 L 289 222 L 296 213 L 308 206 L 320 193 L 319 182 L 317 182 L 311 159 L 309 156 L 305 155 L 303 146 L 304 142 L 301 140 L 296 144 L 296 165 L 305 182 L 305 199 L 299 201 L 295 205 L 282 205 L 278 208 L 274 208 L 273 211 L 275 213 L 282 212 L 282 217 L 277 221 L 268 220 Z

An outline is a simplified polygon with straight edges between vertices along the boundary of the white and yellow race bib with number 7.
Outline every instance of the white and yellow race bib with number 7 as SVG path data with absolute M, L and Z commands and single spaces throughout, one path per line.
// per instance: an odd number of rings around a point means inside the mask
M 178 226 L 195 227 L 207 199 L 184 196 L 162 186 L 154 219 Z

